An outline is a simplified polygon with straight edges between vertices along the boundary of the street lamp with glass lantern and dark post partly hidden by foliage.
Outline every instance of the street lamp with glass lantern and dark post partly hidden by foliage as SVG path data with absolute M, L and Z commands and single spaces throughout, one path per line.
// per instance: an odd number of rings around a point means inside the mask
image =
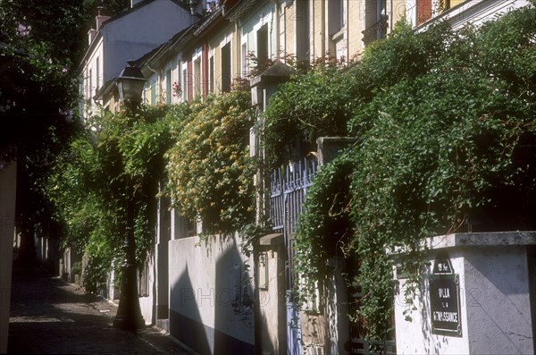
M 138 107 L 141 102 L 141 92 L 145 78 L 138 67 L 126 66 L 116 80 L 119 97 L 125 104 Z M 125 259 L 121 273 L 121 294 L 117 314 L 113 319 L 113 327 L 136 332 L 145 326 L 141 316 L 138 299 L 138 277 L 136 266 L 136 240 L 134 238 L 134 210 L 132 199 L 132 186 L 129 179 L 126 187 L 126 231 L 124 241 Z

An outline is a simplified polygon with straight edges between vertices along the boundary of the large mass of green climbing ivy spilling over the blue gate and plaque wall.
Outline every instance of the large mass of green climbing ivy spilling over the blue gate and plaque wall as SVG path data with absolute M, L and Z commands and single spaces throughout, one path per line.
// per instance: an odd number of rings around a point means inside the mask
M 348 285 L 363 295 L 351 316 L 365 319 L 369 337 L 389 332 L 396 250 L 406 251 L 411 305 L 424 237 L 463 232 L 472 221 L 491 231 L 535 227 L 535 16 L 528 8 L 458 31 L 440 23 L 414 33 L 399 24 L 361 61 L 294 78 L 271 101 L 269 154 L 292 139 L 310 144 L 334 134 L 322 125 L 333 115 L 359 139 L 322 167 L 308 192 L 296 267 L 307 293 L 325 277 L 326 258 L 346 256 L 356 267 Z M 311 102 L 315 95 L 322 105 Z

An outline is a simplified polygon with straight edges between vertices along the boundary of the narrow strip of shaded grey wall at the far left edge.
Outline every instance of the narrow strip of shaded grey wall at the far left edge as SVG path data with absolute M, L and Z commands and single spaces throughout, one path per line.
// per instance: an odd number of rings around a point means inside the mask
M 0 165 L 0 353 L 7 352 L 17 165 Z

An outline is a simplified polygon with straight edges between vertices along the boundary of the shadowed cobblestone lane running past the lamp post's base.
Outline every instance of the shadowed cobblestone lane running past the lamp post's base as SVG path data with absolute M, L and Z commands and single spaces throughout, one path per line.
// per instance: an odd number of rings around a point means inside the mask
M 8 353 L 193 354 L 157 328 L 113 328 L 116 311 L 40 268 L 13 266 Z

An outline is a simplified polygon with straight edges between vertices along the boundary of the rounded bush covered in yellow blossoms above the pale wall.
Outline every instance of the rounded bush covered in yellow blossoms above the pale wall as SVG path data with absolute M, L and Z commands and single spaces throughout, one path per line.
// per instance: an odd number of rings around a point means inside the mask
M 201 218 L 211 232 L 237 231 L 255 216 L 251 97 L 248 88 L 234 88 L 194 101 L 187 114 L 171 113 L 177 123 L 166 155 L 171 197 L 181 214 Z

